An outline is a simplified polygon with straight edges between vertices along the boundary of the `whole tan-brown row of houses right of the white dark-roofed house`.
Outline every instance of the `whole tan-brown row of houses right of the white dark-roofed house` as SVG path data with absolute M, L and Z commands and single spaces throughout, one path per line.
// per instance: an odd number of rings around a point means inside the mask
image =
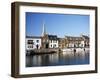
M 65 36 L 65 38 L 59 38 L 59 48 L 82 48 L 89 47 L 89 36 L 81 35 L 79 37 L 75 36 Z

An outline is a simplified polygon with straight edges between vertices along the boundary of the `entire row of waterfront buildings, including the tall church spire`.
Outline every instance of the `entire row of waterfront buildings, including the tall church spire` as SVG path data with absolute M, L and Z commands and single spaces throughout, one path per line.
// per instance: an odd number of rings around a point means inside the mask
M 89 47 L 89 36 L 65 36 L 58 38 L 57 35 L 46 32 L 45 22 L 42 25 L 41 36 L 26 36 L 26 49 L 47 49 L 47 48 L 83 48 Z

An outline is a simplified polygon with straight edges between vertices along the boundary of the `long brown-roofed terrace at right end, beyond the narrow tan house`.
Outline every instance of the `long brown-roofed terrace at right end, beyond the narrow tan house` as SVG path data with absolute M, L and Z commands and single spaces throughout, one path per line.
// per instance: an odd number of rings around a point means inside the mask
M 65 36 L 65 39 L 67 40 L 66 47 L 89 47 L 89 37 L 86 35 Z

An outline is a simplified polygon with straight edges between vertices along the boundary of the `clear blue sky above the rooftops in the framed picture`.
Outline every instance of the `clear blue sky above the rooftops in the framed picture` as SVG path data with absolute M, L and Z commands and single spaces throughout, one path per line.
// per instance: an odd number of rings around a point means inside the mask
M 26 35 L 41 36 L 43 23 L 46 33 L 58 37 L 89 35 L 89 15 L 26 12 Z

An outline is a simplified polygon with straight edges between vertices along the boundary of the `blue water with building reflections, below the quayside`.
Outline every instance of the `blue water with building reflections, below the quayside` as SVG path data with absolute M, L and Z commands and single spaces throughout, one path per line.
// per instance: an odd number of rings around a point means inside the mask
M 26 67 L 89 64 L 89 51 L 26 56 Z

